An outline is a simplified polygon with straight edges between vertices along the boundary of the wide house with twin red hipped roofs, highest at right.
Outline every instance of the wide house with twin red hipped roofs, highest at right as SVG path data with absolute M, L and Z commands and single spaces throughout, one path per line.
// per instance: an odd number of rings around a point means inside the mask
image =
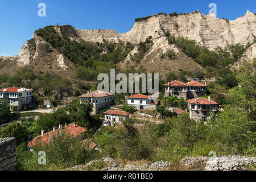
M 164 85 L 165 93 L 164 96 L 176 96 L 177 98 L 195 98 L 195 97 L 205 97 L 207 91 L 207 85 L 202 84 L 198 81 L 190 81 L 187 83 L 181 81 L 171 81 Z

